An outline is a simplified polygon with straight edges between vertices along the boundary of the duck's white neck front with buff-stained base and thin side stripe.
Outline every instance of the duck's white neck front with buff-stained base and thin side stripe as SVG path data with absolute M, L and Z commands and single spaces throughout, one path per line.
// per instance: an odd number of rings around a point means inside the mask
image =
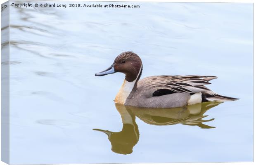
M 142 67 L 140 67 L 140 72 L 141 72 L 141 69 Z M 114 100 L 115 103 L 125 104 L 127 97 L 130 95 L 130 92 L 132 92 L 133 87 L 137 82 L 140 72 L 137 75 L 137 78 L 133 82 L 129 82 L 127 80 L 123 81 L 123 85 L 121 86 L 119 92 L 116 94 L 116 98 Z

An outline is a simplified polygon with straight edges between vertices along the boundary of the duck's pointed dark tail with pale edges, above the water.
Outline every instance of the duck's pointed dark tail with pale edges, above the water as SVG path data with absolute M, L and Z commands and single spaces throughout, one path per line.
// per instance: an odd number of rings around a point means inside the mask
M 207 102 L 207 101 L 223 102 L 223 101 L 235 101 L 235 100 L 238 100 L 238 99 L 233 97 L 222 96 L 212 91 L 202 92 L 202 102 Z

